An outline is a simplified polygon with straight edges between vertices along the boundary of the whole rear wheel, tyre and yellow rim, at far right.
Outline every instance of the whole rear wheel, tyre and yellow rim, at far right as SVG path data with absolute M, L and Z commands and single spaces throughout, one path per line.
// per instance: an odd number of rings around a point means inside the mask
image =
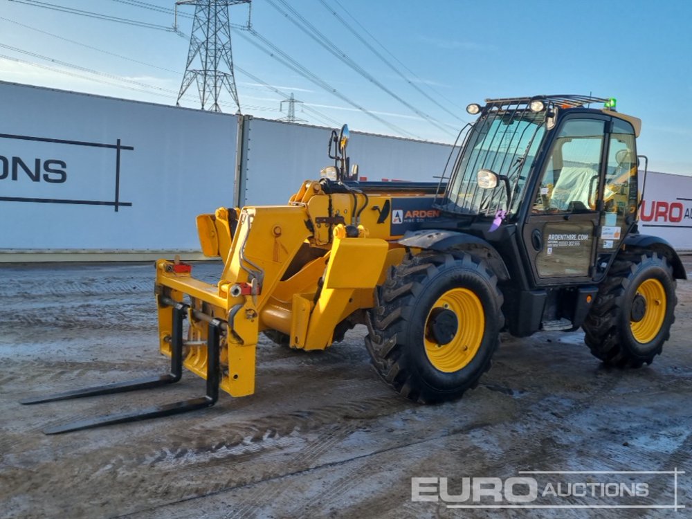
M 666 257 L 647 251 L 614 261 L 584 321 L 584 342 L 606 365 L 650 364 L 671 336 L 675 278 Z

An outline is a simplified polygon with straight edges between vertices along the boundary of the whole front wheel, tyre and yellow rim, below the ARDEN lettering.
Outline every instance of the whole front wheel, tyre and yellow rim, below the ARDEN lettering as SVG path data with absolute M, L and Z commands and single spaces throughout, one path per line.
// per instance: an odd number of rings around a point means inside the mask
M 376 291 L 365 338 L 381 378 L 421 403 L 474 388 L 504 325 L 497 282 L 486 262 L 462 252 L 426 251 L 393 266 Z

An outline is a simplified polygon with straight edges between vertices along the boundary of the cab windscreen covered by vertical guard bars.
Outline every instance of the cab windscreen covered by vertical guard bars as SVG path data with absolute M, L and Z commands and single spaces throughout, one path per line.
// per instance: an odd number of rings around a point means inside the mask
M 534 113 L 525 105 L 484 113 L 466 135 L 441 208 L 466 215 L 494 215 L 500 209 L 515 213 L 545 132 L 545 117 L 545 111 Z M 504 183 L 490 190 L 478 187 L 478 170 L 507 176 L 511 208 Z

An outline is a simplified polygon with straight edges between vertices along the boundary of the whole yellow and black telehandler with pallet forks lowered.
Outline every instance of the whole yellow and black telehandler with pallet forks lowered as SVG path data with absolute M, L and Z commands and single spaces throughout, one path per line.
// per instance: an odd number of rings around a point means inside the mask
M 170 374 L 23 403 L 152 388 L 185 367 L 206 379 L 204 397 L 46 432 L 203 408 L 219 388 L 253 394 L 261 332 L 325 349 L 356 324 L 367 327 L 376 372 L 421 403 L 475 387 L 500 331 L 582 327 L 604 363 L 651 363 L 674 320 L 675 279 L 686 274 L 670 244 L 637 230 L 640 120 L 612 98 L 583 95 L 493 99 L 467 111 L 477 119 L 459 133 L 439 183 L 358 182 L 344 126 L 329 138 L 334 165 L 285 206 L 200 215 L 204 255 L 224 259 L 219 282 L 195 279 L 179 260 L 156 262 Z

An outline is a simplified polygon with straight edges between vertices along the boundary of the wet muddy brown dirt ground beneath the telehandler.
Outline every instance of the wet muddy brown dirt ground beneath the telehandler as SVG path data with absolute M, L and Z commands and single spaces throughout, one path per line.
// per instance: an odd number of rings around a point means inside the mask
M 685 260 L 692 271 L 692 257 Z M 212 280 L 219 268 L 197 264 L 194 273 Z M 204 382 L 186 372 L 158 390 L 18 403 L 167 372 L 156 347 L 153 276 L 151 264 L 1 268 L 1 517 L 662 518 L 692 507 L 692 282 L 678 283 L 662 356 L 640 370 L 605 369 L 581 332 L 503 335 L 476 390 L 426 407 L 377 379 L 363 329 L 313 354 L 262 338 L 252 397 L 222 394 L 216 406 L 186 415 L 44 435 L 45 426 L 73 417 L 203 394 Z M 412 477 L 447 477 L 451 494 L 463 477 L 675 469 L 687 471 L 677 475 L 677 503 L 686 505 L 677 513 L 412 501 Z M 640 504 L 675 500 L 669 474 L 625 481 L 648 485 Z

